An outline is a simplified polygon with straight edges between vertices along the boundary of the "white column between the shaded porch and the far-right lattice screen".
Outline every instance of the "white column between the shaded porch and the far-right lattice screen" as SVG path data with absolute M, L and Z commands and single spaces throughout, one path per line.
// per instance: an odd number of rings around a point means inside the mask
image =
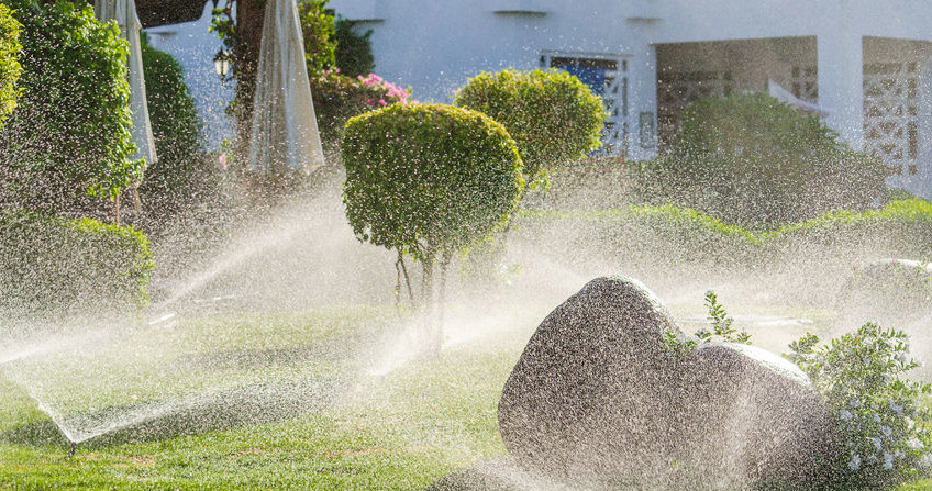
M 855 149 L 864 144 L 864 56 L 861 33 L 842 13 L 835 25 L 817 36 L 819 104 L 825 124 Z M 834 29 L 833 29 L 834 27 Z

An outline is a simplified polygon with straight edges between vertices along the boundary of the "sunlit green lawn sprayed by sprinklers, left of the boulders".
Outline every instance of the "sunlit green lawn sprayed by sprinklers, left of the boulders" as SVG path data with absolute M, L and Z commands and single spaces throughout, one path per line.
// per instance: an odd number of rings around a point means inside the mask
M 821 313 L 802 314 L 818 327 Z M 506 455 L 498 398 L 539 320 L 381 376 L 369 369 L 404 347 L 402 327 L 392 309 L 358 306 L 203 316 L 131 328 L 84 356 L 0 366 L 0 490 L 424 489 Z M 47 404 L 78 416 L 196 403 L 90 439 L 69 459 L 23 388 L 36 381 Z

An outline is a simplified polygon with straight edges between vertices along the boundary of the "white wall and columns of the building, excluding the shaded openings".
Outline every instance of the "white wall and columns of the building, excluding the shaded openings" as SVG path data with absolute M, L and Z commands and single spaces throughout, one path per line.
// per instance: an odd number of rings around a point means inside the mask
M 642 123 L 657 127 L 658 46 L 814 37 L 818 102 L 826 113 L 824 121 L 862 148 L 863 40 L 932 41 L 932 2 L 927 0 L 331 0 L 330 4 L 340 15 L 365 21 L 357 29 L 374 31 L 376 71 L 411 86 L 420 100 L 450 102 L 468 77 L 482 70 L 536 68 L 546 51 L 624 57 L 630 85 L 628 148 L 635 159 L 656 155 L 655 146 L 642 145 L 639 136 Z M 928 78 L 923 83 L 928 86 Z M 928 100 L 924 104 L 923 111 L 932 113 Z M 921 124 L 932 130 L 928 118 Z M 929 141 L 923 137 L 922 171 L 894 178 L 891 186 L 932 194 Z

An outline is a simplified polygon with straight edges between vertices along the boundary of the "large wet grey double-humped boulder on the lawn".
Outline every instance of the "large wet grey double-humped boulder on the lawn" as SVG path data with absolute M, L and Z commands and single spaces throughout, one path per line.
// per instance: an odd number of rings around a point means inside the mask
M 816 486 L 835 438 L 806 375 L 743 345 L 677 355 L 666 332 L 683 336 L 637 281 L 586 284 L 537 327 L 506 382 L 509 453 L 593 484 Z

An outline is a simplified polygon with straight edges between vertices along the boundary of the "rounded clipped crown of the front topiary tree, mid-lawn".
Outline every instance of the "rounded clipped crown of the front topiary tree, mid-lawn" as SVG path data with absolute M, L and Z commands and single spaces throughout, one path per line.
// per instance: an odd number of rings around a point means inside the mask
M 395 104 L 353 118 L 342 153 L 356 236 L 425 265 L 507 222 L 523 186 L 504 127 L 450 105 Z

